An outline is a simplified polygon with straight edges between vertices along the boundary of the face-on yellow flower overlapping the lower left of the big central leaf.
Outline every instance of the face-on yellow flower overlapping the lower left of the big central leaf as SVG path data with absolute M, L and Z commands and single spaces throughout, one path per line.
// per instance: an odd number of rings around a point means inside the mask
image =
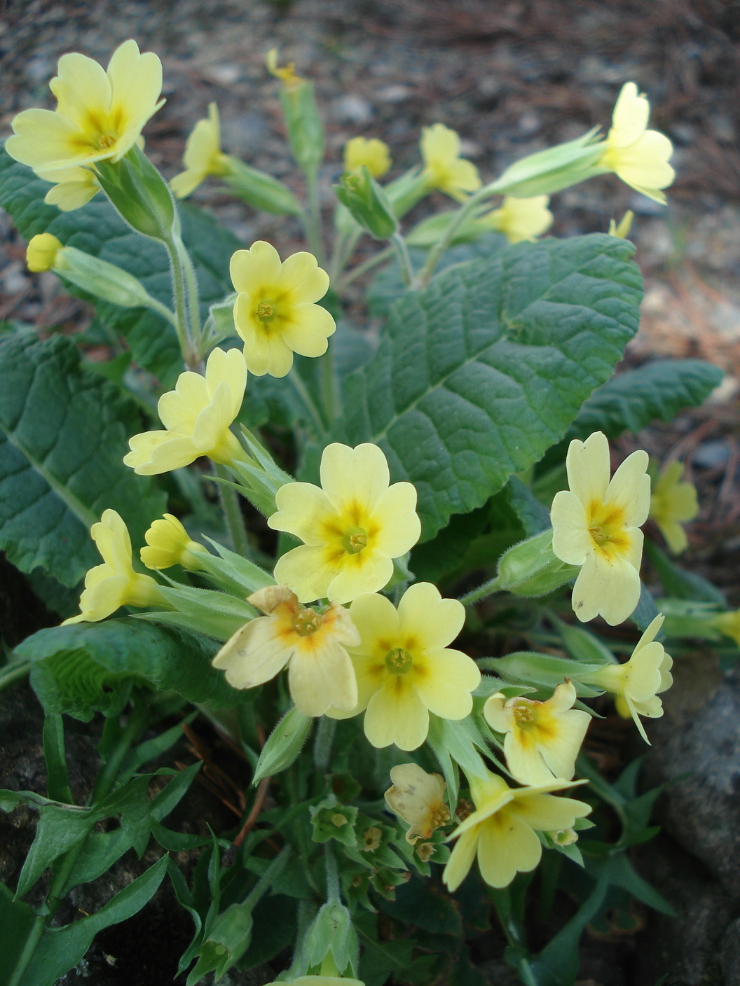
M 416 490 L 411 483 L 391 485 L 386 457 L 369 443 L 355 449 L 328 445 L 321 483 L 321 489 L 287 483 L 277 491 L 277 513 L 268 527 L 304 543 L 278 559 L 276 581 L 301 602 L 349 602 L 382 589 L 393 575 L 393 559 L 419 539 Z

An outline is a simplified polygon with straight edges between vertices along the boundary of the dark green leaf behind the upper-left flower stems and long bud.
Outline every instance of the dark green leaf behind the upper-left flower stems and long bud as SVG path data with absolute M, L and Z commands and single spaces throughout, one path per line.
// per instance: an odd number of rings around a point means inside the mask
M 45 205 L 46 181 L 0 150 L 0 206 L 13 217 L 22 236 L 52 233 L 65 246 L 100 256 L 138 277 L 152 297 L 172 306 L 170 262 L 164 246 L 134 233 L 113 211 L 103 195 L 82 209 L 60 212 Z M 200 291 L 201 317 L 209 307 L 232 291 L 229 259 L 244 246 L 212 216 L 192 206 L 178 206 L 183 241 L 195 265 Z M 146 309 L 121 309 L 91 298 L 79 288 L 66 285 L 72 294 L 92 302 L 102 321 L 124 335 L 136 362 L 151 371 L 165 386 L 175 382 L 183 370 L 177 336 L 163 317 Z

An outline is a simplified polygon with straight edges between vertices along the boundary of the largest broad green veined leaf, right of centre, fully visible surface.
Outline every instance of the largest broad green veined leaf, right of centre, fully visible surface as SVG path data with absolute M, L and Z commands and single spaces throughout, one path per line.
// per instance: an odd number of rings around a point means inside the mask
M 414 483 L 422 540 L 542 457 L 637 329 L 632 246 L 588 236 L 508 246 L 394 306 L 347 381 L 338 438 L 370 441 Z

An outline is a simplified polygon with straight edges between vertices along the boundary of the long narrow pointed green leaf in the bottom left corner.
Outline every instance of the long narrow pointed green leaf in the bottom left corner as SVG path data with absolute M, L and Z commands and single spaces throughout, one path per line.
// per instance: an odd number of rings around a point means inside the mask
M 80 961 L 99 932 L 132 917 L 151 900 L 164 879 L 167 864 L 168 858 L 163 856 L 141 877 L 119 890 L 96 914 L 63 928 L 47 929 L 26 970 L 23 986 L 53 986 Z

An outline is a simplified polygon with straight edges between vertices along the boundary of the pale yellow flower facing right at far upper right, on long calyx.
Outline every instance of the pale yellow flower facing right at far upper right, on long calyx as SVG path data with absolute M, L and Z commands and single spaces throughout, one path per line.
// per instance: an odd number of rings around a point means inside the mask
M 667 188 L 676 176 L 668 164 L 673 144 L 664 134 L 647 129 L 649 115 L 647 97 L 633 82 L 625 83 L 614 107 L 606 150 L 598 163 L 635 191 L 665 203 L 660 189 Z

